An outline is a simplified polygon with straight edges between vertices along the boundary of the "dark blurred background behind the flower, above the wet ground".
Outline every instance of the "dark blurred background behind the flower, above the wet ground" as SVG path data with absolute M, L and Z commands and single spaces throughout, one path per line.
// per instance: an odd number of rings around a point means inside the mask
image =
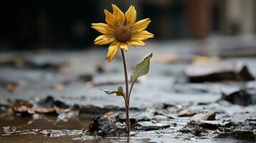
M 138 19 L 151 18 L 152 41 L 228 36 L 238 38 L 221 45 L 255 51 L 255 0 L 1 1 L 0 48 L 86 49 L 99 35 L 90 24 L 104 22 L 110 4 L 123 11 L 133 4 Z

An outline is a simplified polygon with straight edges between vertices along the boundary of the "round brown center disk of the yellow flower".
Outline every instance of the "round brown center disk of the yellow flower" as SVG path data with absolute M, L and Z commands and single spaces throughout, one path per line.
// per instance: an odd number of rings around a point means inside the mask
M 128 26 L 119 26 L 114 32 L 117 41 L 125 42 L 131 39 L 131 29 Z

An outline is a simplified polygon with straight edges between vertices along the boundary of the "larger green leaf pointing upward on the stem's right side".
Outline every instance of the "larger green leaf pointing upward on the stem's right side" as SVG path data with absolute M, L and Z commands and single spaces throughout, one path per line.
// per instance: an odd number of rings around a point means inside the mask
M 148 55 L 140 64 L 137 64 L 135 69 L 133 69 L 133 74 L 131 74 L 131 83 L 134 84 L 138 77 L 148 74 L 150 59 L 153 53 Z

